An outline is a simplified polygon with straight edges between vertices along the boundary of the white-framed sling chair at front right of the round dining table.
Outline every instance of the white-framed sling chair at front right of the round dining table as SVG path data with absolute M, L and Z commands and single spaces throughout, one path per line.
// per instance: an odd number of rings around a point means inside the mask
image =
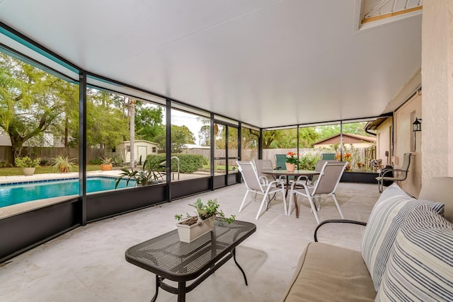
M 340 213 L 341 219 L 345 219 L 340 204 L 338 204 L 335 192 L 347 164 L 348 163 L 346 162 L 326 161 L 321 168 L 318 180 L 314 182 L 313 186 L 306 184 L 304 181 L 293 182 L 291 185 L 291 194 L 289 196 L 288 213 L 291 213 L 292 205 L 294 202 L 297 202 L 297 194 L 302 195 L 309 199 L 311 211 L 314 214 L 316 222 L 319 224 L 321 221 L 319 220 L 317 211 L 319 211 L 321 207 L 316 207 L 315 198 L 331 195 L 338 209 L 338 213 Z

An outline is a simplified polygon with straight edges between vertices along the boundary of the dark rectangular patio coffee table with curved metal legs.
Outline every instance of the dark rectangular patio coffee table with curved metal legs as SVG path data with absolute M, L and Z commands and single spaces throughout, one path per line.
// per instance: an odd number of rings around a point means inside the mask
M 178 301 L 185 301 L 186 293 L 195 289 L 231 257 L 247 285 L 246 274 L 236 262 L 236 246 L 255 231 L 253 223 L 236 220 L 228 224 L 217 220 L 213 231 L 191 243 L 180 242 L 175 229 L 128 248 L 125 257 L 127 262 L 156 274 L 156 294 L 151 302 L 156 301 L 159 287 L 178 294 Z M 178 287 L 164 282 L 165 279 L 178 282 Z

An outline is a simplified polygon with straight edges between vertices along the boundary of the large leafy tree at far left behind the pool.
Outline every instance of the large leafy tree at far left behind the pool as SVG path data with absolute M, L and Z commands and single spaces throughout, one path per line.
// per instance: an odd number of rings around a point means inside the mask
M 0 53 L 0 127 L 11 139 L 14 158 L 23 144 L 45 132 L 62 113 L 55 76 Z

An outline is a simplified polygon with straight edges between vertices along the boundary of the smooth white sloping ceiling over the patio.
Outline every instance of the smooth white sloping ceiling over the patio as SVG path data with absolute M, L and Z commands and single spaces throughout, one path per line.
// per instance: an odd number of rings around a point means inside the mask
M 0 21 L 93 74 L 275 127 L 380 115 L 420 70 L 421 14 L 357 31 L 360 9 L 360 0 L 0 0 Z

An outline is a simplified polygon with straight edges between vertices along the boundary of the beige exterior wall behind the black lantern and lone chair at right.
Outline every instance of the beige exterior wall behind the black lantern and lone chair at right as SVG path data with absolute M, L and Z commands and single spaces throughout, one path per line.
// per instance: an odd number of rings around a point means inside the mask
M 413 132 L 413 117 L 422 116 L 422 96 L 416 93 L 408 100 L 401 108 L 394 113 L 395 129 L 394 129 L 394 156 L 392 162 L 394 167 L 401 168 L 403 164 L 404 153 L 413 153 L 411 158 L 411 166 L 409 167 L 408 178 L 399 185 L 403 190 L 418 196 L 422 187 L 422 149 L 420 132 Z M 423 123 L 422 123 L 423 129 Z M 416 139 L 414 140 L 414 134 Z M 414 145 L 415 142 L 415 145 Z M 415 146 L 415 148 L 414 148 Z

